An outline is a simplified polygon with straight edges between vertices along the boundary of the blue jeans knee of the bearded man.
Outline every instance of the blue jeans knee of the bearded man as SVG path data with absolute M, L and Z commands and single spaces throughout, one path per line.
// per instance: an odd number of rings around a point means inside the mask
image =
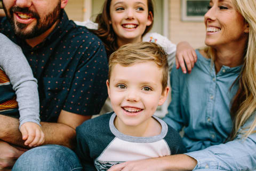
M 82 170 L 75 153 L 67 147 L 46 145 L 23 153 L 12 168 L 13 171 L 71 171 Z

